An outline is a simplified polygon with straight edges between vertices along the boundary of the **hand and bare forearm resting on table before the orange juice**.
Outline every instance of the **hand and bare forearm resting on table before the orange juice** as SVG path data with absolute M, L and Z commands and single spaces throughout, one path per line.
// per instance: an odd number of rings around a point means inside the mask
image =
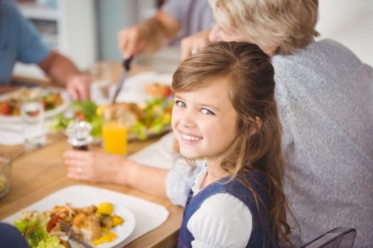
M 137 164 L 115 154 L 68 150 L 63 154 L 69 179 L 131 186 L 153 196 L 167 198 L 168 169 Z

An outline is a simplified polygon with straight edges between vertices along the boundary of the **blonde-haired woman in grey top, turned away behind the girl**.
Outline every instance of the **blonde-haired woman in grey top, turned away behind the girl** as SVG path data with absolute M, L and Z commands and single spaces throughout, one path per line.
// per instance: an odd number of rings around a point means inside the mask
M 210 5 L 216 25 L 208 40 L 207 32 L 185 38 L 184 51 L 198 49 L 204 39 L 206 44 L 243 40 L 272 57 L 283 125 L 284 190 L 301 227 L 299 240 L 293 230 L 294 244 L 348 226 L 357 229 L 357 247 L 371 247 L 372 67 L 333 40 L 314 40 L 317 0 L 210 0 Z M 177 193 L 170 197 L 181 200 Z

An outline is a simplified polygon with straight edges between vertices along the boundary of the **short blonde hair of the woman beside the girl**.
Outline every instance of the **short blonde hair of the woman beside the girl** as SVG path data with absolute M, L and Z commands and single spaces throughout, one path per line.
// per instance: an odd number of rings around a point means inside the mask
M 318 0 L 209 1 L 223 30 L 247 36 L 264 51 L 288 55 L 318 35 Z

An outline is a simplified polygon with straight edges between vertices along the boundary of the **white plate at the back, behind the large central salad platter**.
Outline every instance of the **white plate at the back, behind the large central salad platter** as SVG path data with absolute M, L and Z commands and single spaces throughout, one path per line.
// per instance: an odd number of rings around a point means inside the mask
M 125 79 L 123 88 L 117 96 L 118 102 L 141 104 L 144 101 L 151 100 L 153 96 L 145 93 L 145 87 L 148 84 L 166 84 L 171 85 L 171 73 L 143 72 Z M 111 92 L 112 93 L 112 92 Z

